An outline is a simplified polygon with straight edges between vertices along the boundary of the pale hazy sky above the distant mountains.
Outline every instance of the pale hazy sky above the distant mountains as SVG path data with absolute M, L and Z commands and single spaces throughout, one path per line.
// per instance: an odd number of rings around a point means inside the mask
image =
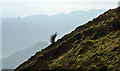
M 54 15 L 76 10 L 110 9 L 119 0 L 2 0 L 3 17 L 24 17 L 35 14 Z

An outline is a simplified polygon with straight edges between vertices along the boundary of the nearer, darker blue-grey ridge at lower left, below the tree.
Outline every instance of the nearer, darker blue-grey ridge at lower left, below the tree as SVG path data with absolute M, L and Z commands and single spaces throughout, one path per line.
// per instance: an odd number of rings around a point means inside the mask
M 32 47 L 16 52 L 2 59 L 2 69 L 15 69 L 19 64 L 27 60 L 35 52 L 40 51 L 48 45 L 48 42 L 39 42 Z

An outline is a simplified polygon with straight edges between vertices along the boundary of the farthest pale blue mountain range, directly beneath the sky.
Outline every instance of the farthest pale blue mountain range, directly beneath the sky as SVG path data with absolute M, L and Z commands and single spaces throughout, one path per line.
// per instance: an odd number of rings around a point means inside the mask
M 3 18 L 3 56 L 23 50 L 38 41 L 49 41 L 50 35 L 55 32 L 58 32 L 58 39 L 104 11 L 93 9 L 53 16 L 32 15 L 24 18 Z

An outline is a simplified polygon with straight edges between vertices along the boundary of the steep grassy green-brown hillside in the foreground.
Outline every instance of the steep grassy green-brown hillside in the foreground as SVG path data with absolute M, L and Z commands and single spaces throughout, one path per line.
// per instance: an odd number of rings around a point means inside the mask
M 120 70 L 120 7 L 77 27 L 20 69 Z

